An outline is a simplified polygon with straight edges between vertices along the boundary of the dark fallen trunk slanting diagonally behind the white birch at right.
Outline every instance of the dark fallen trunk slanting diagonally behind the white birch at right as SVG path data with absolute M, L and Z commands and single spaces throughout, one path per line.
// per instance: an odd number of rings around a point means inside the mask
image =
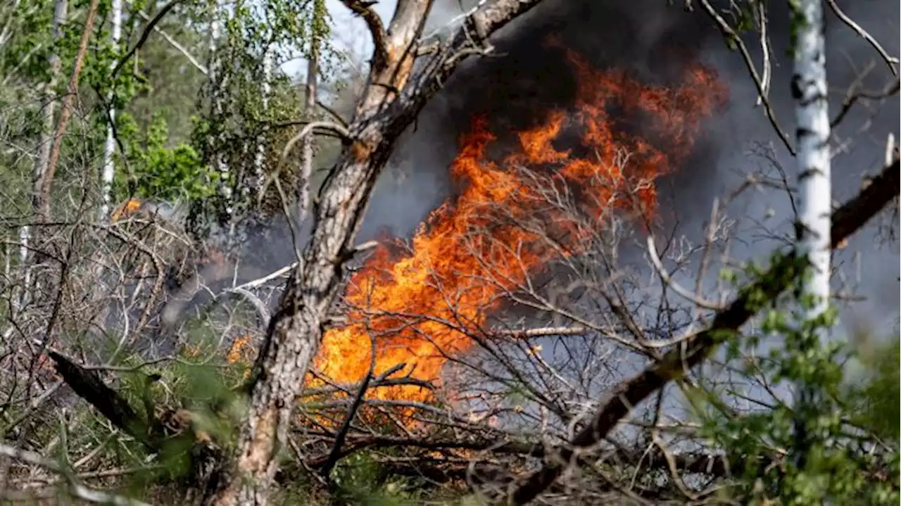
M 896 195 L 901 194 L 901 161 L 887 167 L 850 202 L 833 214 L 832 247 L 847 239 L 873 218 Z M 542 469 L 528 476 L 510 494 L 510 504 L 526 504 L 554 483 L 567 465 L 575 462 L 579 451 L 586 451 L 603 440 L 635 406 L 666 384 L 683 378 L 688 370 L 700 365 L 716 346 L 731 336 L 768 303 L 784 292 L 802 272 L 803 259 L 794 251 L 779 258 L 766 275 L 745 286 L 727 309 L 718 312 L 711 325 L 691 339 L 669 351 L 660 362 L 641 375 L 619 384 L 609 400 L 596 411 L 587 426 L 570 440 L 571 447 L 560 451 L 560 459 L 546 462 Z

